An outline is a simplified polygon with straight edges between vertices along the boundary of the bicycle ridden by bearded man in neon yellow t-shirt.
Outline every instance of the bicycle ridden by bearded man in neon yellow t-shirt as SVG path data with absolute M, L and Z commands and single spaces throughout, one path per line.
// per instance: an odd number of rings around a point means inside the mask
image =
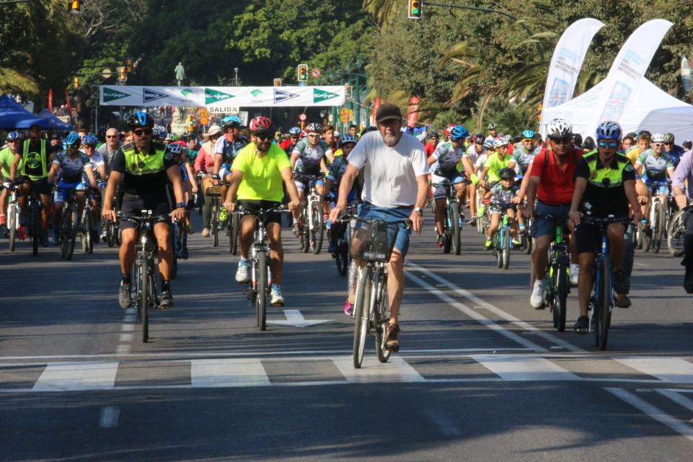
M 257 229 L 253 235 L 253 243 L 250 247 L 251 278 L 245 292 L 248 300 L 255 307 L 256 327 L 260 330 L 267 328 L 267 296 L 270 296 L 272 287 L 272 270 L 270 269 L 270 242 L 267 239 L 265 220 L 270 213 L 286 210 L 283 205 L 272 208 L 261 208 L 255 213 L 240 211 L 242 216 L 253 215 L 257 222 Z

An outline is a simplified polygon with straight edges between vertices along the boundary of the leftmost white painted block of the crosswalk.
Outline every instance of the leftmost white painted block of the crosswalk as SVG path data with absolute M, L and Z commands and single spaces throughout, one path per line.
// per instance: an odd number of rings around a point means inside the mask
M 34 391 L 84 391 L 112 389 L 118 362 L 51 363 L 44 369 Z

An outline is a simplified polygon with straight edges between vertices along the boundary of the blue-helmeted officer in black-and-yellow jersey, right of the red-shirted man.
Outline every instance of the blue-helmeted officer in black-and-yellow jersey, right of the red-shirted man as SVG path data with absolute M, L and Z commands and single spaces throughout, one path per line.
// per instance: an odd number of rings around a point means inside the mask
M 599 247 L 596 226 L 581 223 L 586 212 L 592 217 L 627 219 L 629 204 L 633 218 L 640 219 L 641 211 L 638 195 L 635 193 L 635 169 L 628 159 L 618 152 L 621 128 L 613 121 L 604 121 L 597 128 L 597 150 L 588 152 L 575 168 L 575 190 L 570 205 L 570 220 L 576 226 L 580 274 L 578 299 L 580 317 L 574 330 L 586 333 L 589 327 L 588 303 L 592 290 L 595 265 L 595 251 Z M 613 290 L 618 294 L 627 292 L 627 275 L 623 270 L 624 233 L 623 224 L 613 222 L 608 225 L 609 253 L 613 263 Z

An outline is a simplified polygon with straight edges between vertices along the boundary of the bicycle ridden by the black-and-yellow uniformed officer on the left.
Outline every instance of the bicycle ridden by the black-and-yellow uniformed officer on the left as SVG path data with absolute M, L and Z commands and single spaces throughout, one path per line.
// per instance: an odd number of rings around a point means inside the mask
M 154 236 L 154 225 L 168 220 L 168 215 L 152 215 L 152 211 L 143 210 L 139 216 L 120 216 L 120 218 L 133 222 L 135 229 L 137 229 L 133 263 L 134 303 L 137 307 L 139 321 L 142 324 L 142 341 L 147 343 L 149 341 L 149 310 L 159 308 L 154 268 L 158 246 L 157 238 Z

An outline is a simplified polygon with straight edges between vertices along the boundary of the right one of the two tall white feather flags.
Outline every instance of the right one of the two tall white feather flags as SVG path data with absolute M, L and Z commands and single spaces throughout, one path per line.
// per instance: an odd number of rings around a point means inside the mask
M 633 90 L 638 88 L 660 42 L 673 25 L 665 19 L 653 19 L 628 37 L 604 79 L 607 98 L 602 107 L 595 108 L 595 118 L 590 121 L 593 127 L 600 121 L 620 121 Z

